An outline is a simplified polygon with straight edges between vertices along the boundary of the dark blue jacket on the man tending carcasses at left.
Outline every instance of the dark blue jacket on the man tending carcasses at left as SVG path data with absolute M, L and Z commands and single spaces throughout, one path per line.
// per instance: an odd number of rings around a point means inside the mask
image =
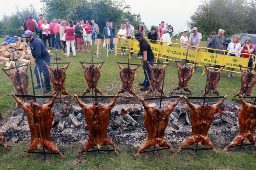
M 50 58 L 50 55 L 44 46 L 44 43 L 41 40 L 38 40 L 37 38 L 33 38 L 32 41 L 30 41 L 30 50 L 32 53 L 32 56 L 35 58 L 35 62 L 38 63 L 41 59 Z

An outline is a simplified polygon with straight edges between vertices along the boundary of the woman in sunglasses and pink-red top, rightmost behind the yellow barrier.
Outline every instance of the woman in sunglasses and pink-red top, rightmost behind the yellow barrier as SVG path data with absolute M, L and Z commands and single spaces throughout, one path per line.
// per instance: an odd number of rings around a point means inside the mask
M 244 41 L 244 43 L 245 44 L 239 50 L 238 55 L 241 55 L 242 52 L 243 53 L 247 53 L 247 54 L 253 54 L 255 46 L 252 44 L 252 40 L 251 39 L 247 39 L 247 40 Z M 250 58 L 249 59 L 249 63 L 248 63 L 248 67 L 253 67 L 253 64 L 254 64 L 254 57 L 253 57 L 253 55 L 243 54 L 242 58 Z

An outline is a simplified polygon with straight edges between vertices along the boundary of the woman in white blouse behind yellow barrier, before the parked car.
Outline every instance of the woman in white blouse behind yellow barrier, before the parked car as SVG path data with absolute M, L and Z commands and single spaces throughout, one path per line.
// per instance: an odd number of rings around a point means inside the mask
M 241 44 L 239 43 L 239 37 L 238 37 L 237 35 L 235 35 L 235 36 L 233 37 L 232 42 L 230 42 L 230 43 L 228 44 L 227 50 L 228 50 L 228 51 L 239 52 L 240 49 L 241 49 Z M 208 51 L 209 51 L 209 50 L 208 50 Z M 238 53 L 231 53 L 231 52 L 228 52 L 227 55 L 240 57 L 240 56 L 238 55 Z M 230 67 L 228 67 L 228 70 L 234 71 L 235 68 L 230 68 Z M 230 75 L 231 75 L 232 77 L 235 77 L 235 75 L 234 75 L 233 72 L 228 71 L 228 73 L 227 73 L 228 78 L 230 78 Z

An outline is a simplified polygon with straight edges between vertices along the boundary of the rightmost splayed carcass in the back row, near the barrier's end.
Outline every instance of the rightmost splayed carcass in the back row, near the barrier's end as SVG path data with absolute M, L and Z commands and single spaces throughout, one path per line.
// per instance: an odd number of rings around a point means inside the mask
M 246 94 L 246 96 L 252 96 L 252 87 L 256 83 L 256 72 L 252 73 L 249 71 L 245 71 L 242 69 L 241 65 L 240 66 L 240 71 L 242 73 L 241 75 L 241 89 L 239 92 L 236 93 L 234 98 L 236 96 L 239 96 L 239 94 L 243 95 Z M 248 86 L 247 86 L 248 84 Z M 233 99 L 234 99 L 233 98 Z M 254 99 L 252 99 L 254 101 Z

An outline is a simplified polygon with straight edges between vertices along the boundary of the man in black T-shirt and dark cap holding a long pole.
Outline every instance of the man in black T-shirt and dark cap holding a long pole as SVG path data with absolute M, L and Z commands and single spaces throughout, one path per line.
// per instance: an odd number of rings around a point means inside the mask
M 140 88 L 140 91 L 147 91 L 149 90 L 149 81 L 151 81 L 151 71 L 147 64 L 147 61 L 150 63 L 151 66 L 153 66 L 152 63 L 154 62 L 155 55 L 150 47 L 150 44 L 146 39 L 144 39 L 141 36 L 141 33 L 135 33 L 134 36 L 135 36 L 134 38 L 140 42 L 140 51 L 138 52 L 138 56 L 139 57 L 140 55 L 142 56 L 142 60 L 143 60 L 142 68 L 144 70 L 144 76 L 145 76 L 143 83 L 139 83 L 139 85 L 144 86 Z M 147 71 L 148 73 L 149 80 L 145 71 Z

